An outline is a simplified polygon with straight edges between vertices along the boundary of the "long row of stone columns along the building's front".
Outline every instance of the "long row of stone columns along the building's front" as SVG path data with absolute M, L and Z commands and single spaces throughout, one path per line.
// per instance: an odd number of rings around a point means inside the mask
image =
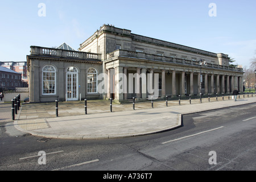
M 113 92 L 115 94 L 115 98 L 118 100 L 127 100 L 129 99 L 127 83 L 122 85 L 122 92 L 119 92 L 120 88 L 120 78 L 119 73 L 123 73 L 126 79 L 129 77 L 129 69 L 128 67 L 116 67 L 114 69 L 114 78 L 110 76 L 110 69 L 106 69 L 106 73 L 108 75 L 108 93 L 107 97 L 112 97 L 111 88 L 113 88 Z M 159 97 L 165 97 L 166 95 L 177 97 L 185 96 L 186 94 L 191 94 L 192 96 L 200 93 L 202 94 L 220 94 L 220 93 L 230 93 L 233 92 L 235 88 L 239 92 L 243 91 L 243 82 L 242 76 L 232 75 L 232 73 L 210 73 L 209 72 L 189 72 L 189 71 L 176 71 L 176 70 L 168 70 L 168 69 L 152 69 L 152 68 L 131 68 L 136 74 L 135 78 L 135 88 L 136 89 L 136 97 L 146 99 L 148 97 L 147 93 L 147 81 L 142 81 L 141 74 L 146 75 L 146 80 L 151 79 L 152 85 L 154 85 L 154 73 L 158 73 L 162 85 L 159 90 Z M 147 73 L 151 73 L 152 77 L 148 77 Z M 200 76 L 202 75 L 202 77 Z M 171 78 L 166 79 L 171 76 Z M 114 80 L 112 80 L 114 79 Z M 111 81 L 112 80 L 112 81 Z M 124 78 L 121 78 L 124 80 Z M 201 82 L 202 81 L 202 82 Z M 114 85 L 113 85 L 114 84 Z M 204 85 L 203 88 L 201 85 Z M 170 88 L 171 87 L 171 88 Z M 168 88 L 168 92 L 167 92 Z M 197 90 L 196 90 L 197 89 Z M 123 91 L 127 92 L 123 92 Z M 135 93 L 134 93 L 135 94 Z

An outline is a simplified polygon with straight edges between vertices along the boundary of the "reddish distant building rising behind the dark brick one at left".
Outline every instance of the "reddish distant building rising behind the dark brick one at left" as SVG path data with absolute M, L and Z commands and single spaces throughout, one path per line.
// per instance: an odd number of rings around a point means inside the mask
M 1 67 L 9 68 L 15 72 L 22 74 L 22 85 L 20 87 L 28 87 L 27 78 L 27 61 L 15 62 L 15 61 L 0 61 Z

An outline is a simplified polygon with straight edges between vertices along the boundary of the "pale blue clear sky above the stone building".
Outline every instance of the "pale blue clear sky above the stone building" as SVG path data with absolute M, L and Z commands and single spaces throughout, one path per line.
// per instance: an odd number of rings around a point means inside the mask
M 30 46 L 77 49 L 103 24 L 214 53 L 249 68 L 256 57 L 256 1 L 0 1 L 0 61 L 26 61 Z M 39 3 L 46 16 L 39 16 Z M 216 15 L 209 16 L 210 3 Z

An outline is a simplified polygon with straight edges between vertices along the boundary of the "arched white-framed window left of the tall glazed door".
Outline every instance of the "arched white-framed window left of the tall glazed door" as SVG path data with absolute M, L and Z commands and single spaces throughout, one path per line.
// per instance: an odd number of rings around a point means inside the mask
M 43 95 L 56 94 L 56 70 L 52 65 L 43 67 Z

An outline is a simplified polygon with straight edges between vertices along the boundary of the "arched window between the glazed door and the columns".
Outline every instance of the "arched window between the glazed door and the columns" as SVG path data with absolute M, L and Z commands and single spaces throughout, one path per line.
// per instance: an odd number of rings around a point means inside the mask
M 97 93 L 97 70 L 95 68 L 89 68 L 87 72 L 87 93 Z

